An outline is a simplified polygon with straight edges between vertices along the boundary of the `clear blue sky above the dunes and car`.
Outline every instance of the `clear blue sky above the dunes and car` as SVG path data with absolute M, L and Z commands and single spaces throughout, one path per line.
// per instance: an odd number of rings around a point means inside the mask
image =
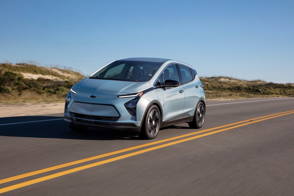
M 160 57 L 201 76 L 294 82 L 294 1 L 0 0 L 0 61 L 91 74 Z

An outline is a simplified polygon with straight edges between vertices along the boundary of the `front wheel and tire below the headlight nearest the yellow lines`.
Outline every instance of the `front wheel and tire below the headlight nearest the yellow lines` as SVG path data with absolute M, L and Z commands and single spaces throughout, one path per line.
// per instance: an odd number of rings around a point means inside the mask
M 144 118 L 141 131 L 138 136 L 142 139 L 154 139 L 160 129 L 161 116 L 156 105 L 152 105 Z

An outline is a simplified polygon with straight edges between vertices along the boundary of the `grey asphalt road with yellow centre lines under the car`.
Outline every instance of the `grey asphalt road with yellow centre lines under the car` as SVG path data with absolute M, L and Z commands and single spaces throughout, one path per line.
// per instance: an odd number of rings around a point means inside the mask
M 294 98 L 207 102 L 154 140 L 61 118 L 0 118 L 1 195 L 294 195 Z

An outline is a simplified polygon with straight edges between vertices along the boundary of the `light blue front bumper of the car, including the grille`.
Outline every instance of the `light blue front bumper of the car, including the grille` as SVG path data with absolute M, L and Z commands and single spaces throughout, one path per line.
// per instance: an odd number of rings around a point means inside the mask
M 150 101 L 141 97 L 137 103 L 136 116 L 133 116 L 124 106 L 133 97 L 118 98 L 116 94 L 102 93 L 96 99 L 88 96 L 88 91 L 71 94 L 71 100 L 65 104 L 64 109 L 64 121 L 67 124 L 140 131 L 144 112 Z

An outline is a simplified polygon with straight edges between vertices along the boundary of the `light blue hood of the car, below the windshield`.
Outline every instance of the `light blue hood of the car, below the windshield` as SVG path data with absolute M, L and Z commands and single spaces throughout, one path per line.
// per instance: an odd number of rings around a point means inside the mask
M 128 82 L 118 80 L 103 80 L 85 78 L 75 84 L 74 90 L 108 91 L 132 94 L 150 88 L 150 82 Z

